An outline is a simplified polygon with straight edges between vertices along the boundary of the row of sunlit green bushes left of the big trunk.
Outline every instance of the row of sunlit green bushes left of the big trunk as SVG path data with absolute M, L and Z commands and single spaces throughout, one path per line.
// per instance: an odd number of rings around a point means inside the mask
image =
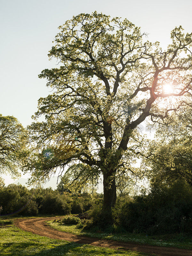
M 102 195 L 88 193 L 60 193 L 52 188 L 31 188 L 22 185 L 10 184 L 0 187 L 0 205 L 3 207 L 2 216 L 37 214 L 83 213 L 89 210 L 95 200 Z

